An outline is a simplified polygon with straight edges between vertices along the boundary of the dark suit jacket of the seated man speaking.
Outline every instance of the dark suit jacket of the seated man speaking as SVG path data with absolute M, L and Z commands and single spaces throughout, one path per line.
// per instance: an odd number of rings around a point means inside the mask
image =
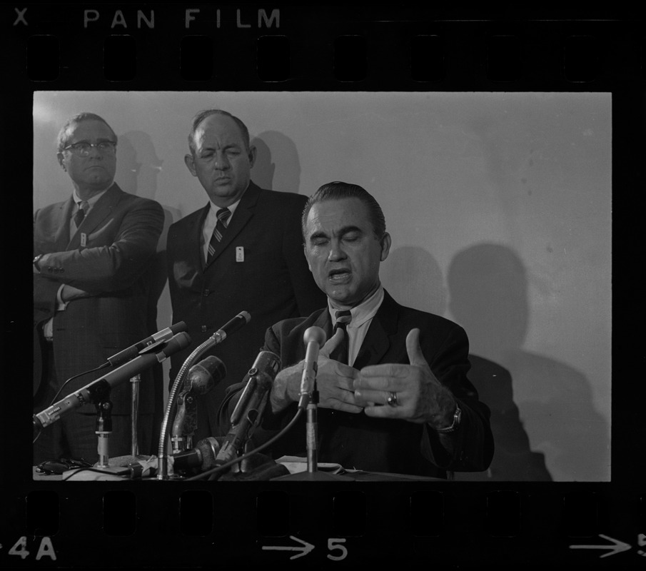
M 265 349 L 281 357 L 283 367 L 305 357 L 303 333 L 308 327 L 332 333 L 327 308 L 308 318 L 277 323 L 267 331 Z M 460 428 L 453 433 L 453 455 L 440 445 L 438 434 L 427 425 L 405 420 L 370 418 L 358 414 L 318 408 L 318 461 L 340 463 L 344 468 L 373 472 L 403 473 L 446 477 L 446 470 L 486 470 L 493 455 L 493 437 L 489 409 L 478 400 L 473 385 L 466 378 L 469 368 L 468 339 L 465 331 L 450 320 L 423 311 L 405 308 L 385 292 L 383 303 L 370 323 L 353 367 L 361 369 L 378 363 L 408 363 L 406 335 L 420 328 L 420 346 L 431 370 L 440 383 L 450 388 L 463 411 Z M 243 385 L 231 387 L 220 410 L 223 430 Z M 256 445 L 275 435 L 296 414 L 292 403 L 279 415 L 269 405 L 261 428 L 253 433 Z M 271 448 L 273 458 L 282 455 L 306 455 L 306 415 L 301 415 L 291 430 Z M 224 428 L 226 427 L 226 429 Z

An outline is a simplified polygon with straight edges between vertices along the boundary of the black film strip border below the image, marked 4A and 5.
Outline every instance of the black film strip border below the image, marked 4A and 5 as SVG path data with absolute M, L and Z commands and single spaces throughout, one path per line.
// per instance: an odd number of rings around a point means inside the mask
M 424 485 L 233 487 L 141 482 L 84 486 L 83 500 L 61 490 L 33 490 L 6 515 L 11 568 L 56 563 L 155 567 L 208 563 L 306 565 L 595 565 L 642 566 L 645 498 L 618 509 L 600 489 L 549 486 L 524 490 Z M 250 487 L 248 487 L 250 486 Z M 234 490 L 233 488 L 237 488 Z M 625 498 L 627 500 L 627 498 Z M 628 537 L 630 536 L 630 537 Z M 620 555 L 624 554 L 624 555 Z

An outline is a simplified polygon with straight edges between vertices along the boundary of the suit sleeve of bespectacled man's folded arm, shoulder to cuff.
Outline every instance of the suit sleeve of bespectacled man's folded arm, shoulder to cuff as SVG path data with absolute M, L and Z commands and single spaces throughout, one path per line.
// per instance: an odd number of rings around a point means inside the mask
M 112 225 L 118 224 L 118 228 Z M 155 201 L 136 201 L 100 232 L 113 233 L 104 246 L 50 253 L 41 278 L 73 285 L 89 293 L 116 292 L 130 287 L 146 271 L 163 229 L 163 209 Z M 101 236 L 96 237 L 101 240 Z

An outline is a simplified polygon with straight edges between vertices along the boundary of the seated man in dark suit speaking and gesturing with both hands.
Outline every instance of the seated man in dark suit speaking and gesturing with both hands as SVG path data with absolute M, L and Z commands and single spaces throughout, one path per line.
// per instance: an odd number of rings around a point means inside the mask
M 489 409 L 466 377 L 467 335 L 450 320 L 399 305 L 383 289 L 379 266 L 390 235 L 378 203 L 360 186 L 324 185 L 303 213 L 303 238 L 308 266 L 328 303 L 266 332 L 265 349 L 284 368 L 253 442 L 276 435 L 296 414 L 303 334 L 316 326 L 328 338 L 316 380 L 320 462 L 431 477 L 486 470 L 493 437 Z M 242 389 L 232 387 L 223 403 L 223 430 Z M 306 455 L 304 416 L 272 446 L 273 458 Z

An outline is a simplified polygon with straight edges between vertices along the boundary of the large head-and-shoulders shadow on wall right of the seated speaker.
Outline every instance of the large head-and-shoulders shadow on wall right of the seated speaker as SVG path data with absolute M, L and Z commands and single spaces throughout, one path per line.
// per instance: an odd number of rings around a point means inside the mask
M 495 455 L 487 473 L 456 480 L 607 480 L 610 431 L 582 373 L 523 350 L 528 281 L 508 247 L 483 243 L 450 263 L 449 308 L 469 335 L 469 378 L 491 409 Z

